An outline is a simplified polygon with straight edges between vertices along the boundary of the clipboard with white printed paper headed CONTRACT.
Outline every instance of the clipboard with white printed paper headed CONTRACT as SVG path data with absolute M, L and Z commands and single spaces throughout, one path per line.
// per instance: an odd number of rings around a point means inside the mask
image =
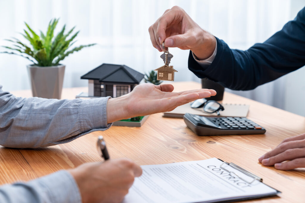
M 123 203 L 219 202 L 265 197 L 281 192 L 220 159 L 141 166 Z

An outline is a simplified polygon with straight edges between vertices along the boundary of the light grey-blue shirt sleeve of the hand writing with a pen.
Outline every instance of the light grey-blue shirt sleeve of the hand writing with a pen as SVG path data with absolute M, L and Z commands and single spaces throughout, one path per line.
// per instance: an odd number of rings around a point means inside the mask
M 0 187 L 1 203 L 81 203 L 73 176 L 61 170 L 30 182 Z

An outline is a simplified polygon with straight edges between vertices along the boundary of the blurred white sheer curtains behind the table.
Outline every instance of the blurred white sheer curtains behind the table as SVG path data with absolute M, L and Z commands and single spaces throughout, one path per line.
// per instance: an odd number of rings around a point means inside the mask
M 223 39 L 231 48 L 246 50 L 264 42 L 295 18 L 305 0 L 0 0 L 0 45 L 20 35 L 27 22 L 34 31 L 46 31 L 52 18 L 80 30 L 75 46 L 97 43 L 69 55 L 63 87 L 87 86 L 80 76 L 102 63 L 124 64 L 146 73 L 163 65 L 160 52 L 150 42 L 148 27 L 166 9 L 178 5 L 203 29 Z M 4 51 L 3 48 L 0 51 Z M 200 80 L 188 70 L 189 51 L 170 48 L 175 82 Z M 30 89 L 27 59 L 0 54 L 3 90 Z M 226 91 L 305 116 L 305 68 L 251 91 Z

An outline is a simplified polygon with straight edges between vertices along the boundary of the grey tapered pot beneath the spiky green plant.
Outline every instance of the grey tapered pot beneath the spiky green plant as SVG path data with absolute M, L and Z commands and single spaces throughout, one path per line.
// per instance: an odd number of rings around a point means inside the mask
M 60 99 L 65 65 L 40 67 L 27 65 L 33 96 Z

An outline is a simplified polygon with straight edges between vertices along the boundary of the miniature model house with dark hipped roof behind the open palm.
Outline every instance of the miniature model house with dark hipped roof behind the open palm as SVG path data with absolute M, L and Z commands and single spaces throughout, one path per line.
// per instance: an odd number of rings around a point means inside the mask
M 119 97 L 130 93 L 144 78 L 140 72 L 126 65 L 102 64 L 81 79 L 88 79 L 88 96 Z

